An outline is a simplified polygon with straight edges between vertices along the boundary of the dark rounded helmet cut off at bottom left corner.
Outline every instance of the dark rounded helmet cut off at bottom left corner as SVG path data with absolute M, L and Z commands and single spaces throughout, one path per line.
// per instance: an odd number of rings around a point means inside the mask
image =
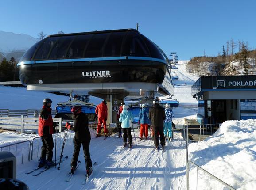
M 19 181 L 18 179 L 12 178 L 1 178 L 0 179 L 1 190 L 29 190 L 28 186 Z

